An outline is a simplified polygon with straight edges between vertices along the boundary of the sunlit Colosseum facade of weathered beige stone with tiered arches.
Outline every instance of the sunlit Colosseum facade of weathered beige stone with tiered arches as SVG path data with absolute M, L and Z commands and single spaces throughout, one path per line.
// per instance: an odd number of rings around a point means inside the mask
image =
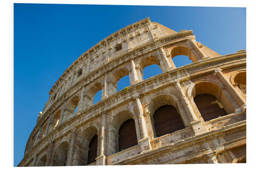
M 179 55 L 192 63 L 176 67 Z M 152 64 L 162 73 L 143 80 Z M 135 22 L 79 56 L 49 94 L 18 166 L 246 162 L 246 51 L 220 55 L 191 30 Z

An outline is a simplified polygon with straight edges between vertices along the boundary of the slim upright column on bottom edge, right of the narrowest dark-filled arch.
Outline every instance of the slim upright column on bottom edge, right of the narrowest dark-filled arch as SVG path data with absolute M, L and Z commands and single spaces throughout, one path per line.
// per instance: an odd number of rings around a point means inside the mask
M 100 145 L 99 156 L 96 158 L 96 165 L 105 165 L 105 140 L 106 140 L 106 113 L 101 114 L 101 133 L 100 133 Z

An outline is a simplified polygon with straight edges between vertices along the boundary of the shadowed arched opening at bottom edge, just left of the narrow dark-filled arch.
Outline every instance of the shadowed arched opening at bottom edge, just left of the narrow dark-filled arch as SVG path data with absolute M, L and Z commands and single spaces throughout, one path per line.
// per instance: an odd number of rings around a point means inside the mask
M 53 156 L 53 166 L 66 166 L 69 143 L 63 141 L 55 151 Z

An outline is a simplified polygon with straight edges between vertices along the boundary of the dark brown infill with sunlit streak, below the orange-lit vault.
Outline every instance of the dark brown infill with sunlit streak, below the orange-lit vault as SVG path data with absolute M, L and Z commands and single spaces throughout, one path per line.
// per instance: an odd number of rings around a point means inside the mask
M 194 101 L 204 121 L 227 115 L 219 100 L 211 94 L 198 94 Z

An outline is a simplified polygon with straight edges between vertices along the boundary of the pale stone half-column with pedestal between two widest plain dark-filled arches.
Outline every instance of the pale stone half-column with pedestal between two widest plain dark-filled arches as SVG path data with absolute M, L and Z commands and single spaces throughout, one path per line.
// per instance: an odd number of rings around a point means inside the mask
M 141 152 L 146 152 L 147 150 L 152 150 L 150 138 L 148 138 L 147 130 L 146 130 L 146 122 L 143 115 L 143 108 L 139 99 L 139 96 L 134 98 L 136 100 L 136 105 L 139 111 L 138 119 L 139 119 L 139 127 L 140 127 L 140 139 L 139 144 L 141 147 Z

